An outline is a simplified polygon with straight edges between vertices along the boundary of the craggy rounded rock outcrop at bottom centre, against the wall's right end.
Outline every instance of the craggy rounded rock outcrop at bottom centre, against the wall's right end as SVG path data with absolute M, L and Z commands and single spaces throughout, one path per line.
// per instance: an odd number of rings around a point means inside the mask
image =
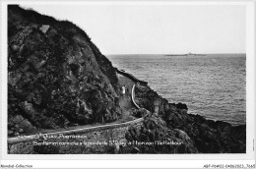
M 148 115 L 142 125 L 133 125 L 125 135 L 131 142 L 122 153 L 198 153 L 186 133 L 167 128 L 160 116 Z

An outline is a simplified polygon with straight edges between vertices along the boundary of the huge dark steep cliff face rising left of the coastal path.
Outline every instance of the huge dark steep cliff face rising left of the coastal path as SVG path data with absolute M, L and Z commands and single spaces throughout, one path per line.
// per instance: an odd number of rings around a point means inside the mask
M 74 24 L 8 6 L 9 135 L 115 121 L 115 69 Z

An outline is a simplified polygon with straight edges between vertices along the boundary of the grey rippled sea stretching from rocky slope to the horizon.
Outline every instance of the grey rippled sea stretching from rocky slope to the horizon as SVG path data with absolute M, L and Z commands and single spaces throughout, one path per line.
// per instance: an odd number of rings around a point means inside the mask
M 246 123 L 246 54 L 108 55 L 119 70 L 149 83 L 188 113 L 232 125 Z

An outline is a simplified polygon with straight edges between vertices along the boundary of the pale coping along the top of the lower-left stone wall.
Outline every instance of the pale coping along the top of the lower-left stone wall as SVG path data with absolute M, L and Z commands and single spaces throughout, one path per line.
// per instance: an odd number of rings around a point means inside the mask
M 69 131 L 60 131 L 60 132 L 54 132 L 54 133 L 44 133 L 47 134 L 48 136 L 53 136 L 53 135 L 71 135 L 71 134 L 82 134 L 82 133 L 89 133 L 89 132 L 94 132 L 98 130 L 109 130 L 109 129 L 114 129 L 114 128 L 120 128 L 120 127 L 126 127 L 135 123 L 139 123 L 143 121 L 143 117 L 130 121 L 130 122 L 124 122 L 124 123 L 119 123 L 119 124 L 111 124 L 111 125 L 102 125 L 102 126 L 96 126 L 96 127 L 90 127 L 90 128 L 82 128 L 82 129 L 76 129 L 76 130 L 69 130 Z M 17 138 L 9 138 L 7 141 L 9 144 L 12 143 L 18 143 L 18 142 L 24 142 L 24 141 L 32 141 L 36 137 L 36 135 L 30 135 L 30 136 L 24 136 L 24 137 L 17 137 Z

